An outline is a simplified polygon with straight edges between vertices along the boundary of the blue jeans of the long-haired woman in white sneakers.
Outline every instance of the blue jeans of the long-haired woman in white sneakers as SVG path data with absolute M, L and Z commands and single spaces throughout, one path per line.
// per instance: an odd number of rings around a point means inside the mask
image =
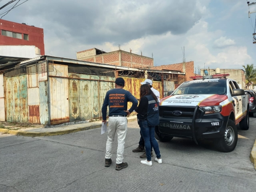
M 161 158 L 158 142 L 155 138 L 155 127 L 148 126 L 147 121 L 140 121 L 140 131 L 145 141 L 147 160 L 151 161 L 151 146 L 156 153 L 156 158 Z

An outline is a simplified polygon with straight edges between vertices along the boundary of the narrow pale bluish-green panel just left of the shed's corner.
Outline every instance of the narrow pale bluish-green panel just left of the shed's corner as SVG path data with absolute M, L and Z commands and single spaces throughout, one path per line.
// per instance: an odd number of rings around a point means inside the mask
M 49 124 L 48 113 L 48 81 L 39 82 L 39 97 L 40 97 L 40 122 L 41 124 Z

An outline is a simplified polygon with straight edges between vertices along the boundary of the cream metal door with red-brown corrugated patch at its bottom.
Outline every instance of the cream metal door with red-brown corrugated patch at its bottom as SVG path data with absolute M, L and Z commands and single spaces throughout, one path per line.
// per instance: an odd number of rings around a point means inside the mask
M 28 66 L 28 115 L 29 122 L 40 124 L 40 96 L 37 66 Z

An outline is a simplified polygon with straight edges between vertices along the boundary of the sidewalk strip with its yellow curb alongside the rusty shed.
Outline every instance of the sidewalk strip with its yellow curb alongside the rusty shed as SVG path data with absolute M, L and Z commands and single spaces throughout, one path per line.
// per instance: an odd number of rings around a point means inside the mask
M 128 119 L 128 122 L 136 121 L 137 116 L 130 116 L 127 119 Z M 28 136 L 28 137 L 40 137 L 40 136 L 63 135 L 63 134 L 74 133 L 78 131 L 100 128 L 101 126 L 102 126 L 102 120 L 95 121 L 95 122 L 86 122 L 81 124 L 56 126 L 56 127 L 50 127 L 50 128 L 30 127 L 30 128 L 19 129 L 19 130 L 0 128 L 0 132 L 2 134 L 12 134 L 12 135 L 20 135 L 20 136 Z

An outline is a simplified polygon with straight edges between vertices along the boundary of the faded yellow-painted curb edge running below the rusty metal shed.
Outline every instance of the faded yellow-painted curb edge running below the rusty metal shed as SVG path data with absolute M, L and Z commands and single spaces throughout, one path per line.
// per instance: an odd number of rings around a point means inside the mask
M 128 122 L 132 122 L 136 120 L 137 120 L 136 118 L 128 119 Z M 74 133 L 78 131 L 85 131 L 85 130 L 100 128 L 100 127 L 101 127 L 101 124 L 98 124 L 98 125 L 92 125 L 87 127 L 80 127 L 80 128 L 69 129 L 69 130 L 52 131 L 52 132 L 27 132 L 27 131 L 8 130 L 8 129 L 0 128 L 0 132 L 4 134 L 20 135 L 20 136 L 26 136 L 26 137 L 44 137 L 44 136 L 64 135 L 64 134 Z M 47 128 L 47 129 L 50 129 L 50 128 Z

